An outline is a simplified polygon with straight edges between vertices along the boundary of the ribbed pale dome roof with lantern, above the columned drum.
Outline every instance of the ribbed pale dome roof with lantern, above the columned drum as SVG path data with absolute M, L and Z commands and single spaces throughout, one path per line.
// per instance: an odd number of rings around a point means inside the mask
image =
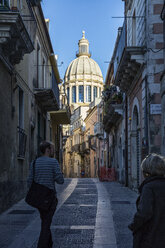
M 99 65 L 90 58 L 89 42 L 85 38 L 85 32 L 83 31 L 83 37 L 79 41 L 79 53 L 77 58 L 74 59 L 68 66 L 65 73 L 65 82 L 82 80 L 103 82 L 102 72 Z

